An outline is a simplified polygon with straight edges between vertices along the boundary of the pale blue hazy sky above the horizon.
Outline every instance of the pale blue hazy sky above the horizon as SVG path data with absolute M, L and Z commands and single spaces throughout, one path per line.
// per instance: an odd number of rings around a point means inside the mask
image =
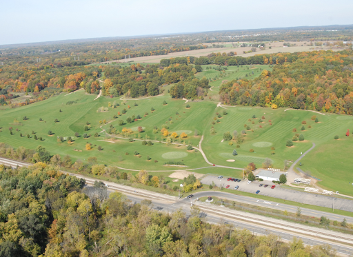
M 0 8 L 0 45 L 214 30 L 347 25 L 353 24 L 352 10 L 352 0 L 4 0 Z

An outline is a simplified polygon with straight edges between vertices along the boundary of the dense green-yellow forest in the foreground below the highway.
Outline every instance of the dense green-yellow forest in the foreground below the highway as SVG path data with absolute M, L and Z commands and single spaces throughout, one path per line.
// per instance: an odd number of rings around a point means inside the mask
M 0 179 L 0 256 L 335 256 L 296 238 L 208 224 L 197 207 L 190 216 L 158 212 L 41 162 L 0 165 Z

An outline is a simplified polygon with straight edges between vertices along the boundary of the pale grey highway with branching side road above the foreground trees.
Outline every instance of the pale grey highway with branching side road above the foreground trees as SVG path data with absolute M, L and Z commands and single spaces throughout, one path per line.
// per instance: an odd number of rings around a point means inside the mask
M 31 165 L 30 163 L 21 163 L 21 162 L 12 161 L 6 158 L 0 158 L 0 163 L 3 163 L 5 165 L 11 165 L 13 167 L 17 167 L 17 165 L 18 166 Z M 68 173 L 68 172 L 65 172 L 65 173 Z M 92 185 L 96 180 L 94 178 L 85 177 L 80 174 L 71 174 L 71 173 L 69 174 L 72 176 L 77 176 L 79 178 L 85 178 L 86 183 L 88 185 Z M 190 200 L 187 198 L 177 199 L 174 196 L 158 194 L 158 193 L 149 192 L 147 190 L 142 190 L 142 189 L 135 189 L 134 187 L 123 186 L 123 185 L 119 185 L 108 181 L 103 181 L 103 182 L 105 183 L 105 185 L 108 185 L 108 189 L 110 191 L 119 191 L 126 194 L 128 196 L 128 199 L 130 199 L 132 203 L 139 203 L 141 200 L 148 198 L 152 200 L 154 209 L 157 209 L 162 212 L 175 212 L 177 209 L 181 208 L 183 212 L 185 212 L 185 214 L 190 215 Z M 194 198 L 192 199 L 194 201 L 196 200 L 196 197 L 209 196 L 209 195 L 217 196 L 220 198 L 228 198 L 230 200 L 239 201 L 239 202 L 241 201 L 243 203 L 250 203 L 253 205 L 272 207 L 274 209 L 283 208 L 290 211 L 294 208 L 294 212 L 296 211 L 296 207 L 292 207 L 291 205 L 282 205 L 282 204 L 276 205 L 274 203 L 265 202 L 256 198 L 252 198 L 248 196 L 239 196 L 239 195 L 225 193 L 225 192 L 213 192 L 213 191 L 198 192 L 194 194 Z M 347 256 L 351 256 L 353 254 L 353 247 L 350 246 L 350 245 L 353 245 L 352 235 L 341 234 L 339 236 L 337 235 L 334 236 L 334 232 L 330 232 L 329 230 L 327 230 L 327 232 L 322 233 L 315 230 L 314 227 L 305 227 L 305 229 L 303 229 L 303 231 L 301 232 L 300 229 L 298 229 L 299 225 L 296 225 L 295 223 L 291 223 L 292 226 L 288 226 L 288 227 L 282 226 L 284 228 L 281 228 L 281 225 L 278 226 L 278 225 L 271 225 L 271 224 L 265 225 L 264 223 L 261 224 L 261 219 L 263 220 L 267 219 L 264 216 L 259 216 L 259 218 L 257 219 L 250 220 L 250 218 L 248 218 L 248 215 L 250 214 L 247 214 L 245 212 L 243 212 L 243 214 L 245 215 L 239 215 L 239 214 L 236 215 L 236 214 L 232 214 L 232 212 L 230 212 L 230 209 L 227 209 L 227 208 L 221 209 L 214 205 L 199 205 L 199 204 L 197 205 L 198 207 L 200 207 L 202 211 L 201 216 L 205 218 L 205 220 L 209 223 L 214 223 L 214 224 L 230 223 L 230 224 L 233 224 L 234 227 L 236 228 L 248 229 L 251 232 L 256 234 L 264 234 L 264 235 L 276 234 L 281 238 L 283 238 L 283 240 L 292 240 L 292 238 L 296 236 L 297 238 L 301 238 L 306 245 L 328 244 L 328 245 L 331 245 L 332 248 L 336 249 L 336 251 L 340 254 L 344 254 Z M 302 209 L 302 213 L 309 214 L 312 216 L 314 215 L 326 216 L 327 218 L 330 217 L 330 215 L 334 215 L 332 216 L 332 219 L 343 220 L 343 218 L 346 218 L 347 220 L 352 220 L 352 218 L 350 217 L 339 216 L 339 215 L 335 216 L 335 214 L 313 211 L 311 209 Z M 279 224 L 285 223 L 282 220 L 276 220 L 276 222 Z M 305 232 L 304 230 L 307 232 Z M 330 238 L 332 239 L 330 240 Z M 340 240 L 341 242 L 338 243 L 338 241 Z M 345 245 L 342 242 L 348 242 L 350 245 Z

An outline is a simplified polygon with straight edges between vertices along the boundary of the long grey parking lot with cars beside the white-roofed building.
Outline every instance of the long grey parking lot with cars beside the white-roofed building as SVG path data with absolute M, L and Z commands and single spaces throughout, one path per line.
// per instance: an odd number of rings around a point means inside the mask
M 236 185 L 239 185 L 239 189 L 234 191 L 242 191 L 256 194 L 257 190 L 260 190 L 259 195 L 263 196 L 271 196 L 275 198 L 280 198 L 288 201 L 294 201 L 298 203 L 305 203 L 309 205 L 318 205 L 322 207 L 341 209 L 348 212 L 353 212 L 353 201 L 345 198 L 338 198 L 333 196 L 325 196 L 323 194 L 314 194 L 308 192 L 296 191 L 294 189 L 281 188 L 280 185 L 272 183 L 272 181 L 254 181 L 248 184 L 248 180 L 244 180 L 241 182 L 227 181 L 228 177 L 223 177 L 221 180 L 217 178 L 217 176 L 205 176 L 201 180 L 201 183 L 205 185 L 212 185 L 212 181 L 214 184 L 219 187 L 226 187 L 230 185 L 229 189 L 234 189 Z M 262 187 L 259 187 L 260 184 L 263 184 Z M 268 187 L 264 187 L 264 185 L 268 185 Z M 274 189 L 271 189 L 272 185 L 276 185 Z

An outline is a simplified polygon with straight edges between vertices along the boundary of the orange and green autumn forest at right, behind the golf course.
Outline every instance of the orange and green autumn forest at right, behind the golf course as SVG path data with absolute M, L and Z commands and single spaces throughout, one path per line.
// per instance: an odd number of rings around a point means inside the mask
M 268 63 L 268 57 L 261 56 L 263 63 Z M 219 91 L 221 101 L 352 114 L 352 51 L 276 54 L 276 59 L 284 62 L 274 65 L 272 72 L 263 70 L 254 80 L 225 81 Z

